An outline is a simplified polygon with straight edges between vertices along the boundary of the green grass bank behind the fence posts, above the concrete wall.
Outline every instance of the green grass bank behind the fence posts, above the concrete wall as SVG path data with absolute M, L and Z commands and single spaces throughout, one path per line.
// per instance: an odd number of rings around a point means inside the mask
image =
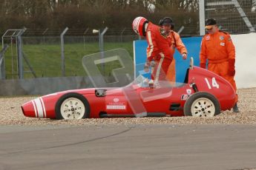
M 125 43 L 105 43 L 105 50 L 124 48 L 133 56 L 132 42 Z M 13 51 L 13 55 L 12 55 Z M 62 76 L 61 48 L 59 44 L 24 44 L 23 51 L 30 65 L 36 72 L 37 77 L 59 77 Z M 65 44 L 65 73 L 66 76 L 86 75 L 82 67 L 82 58 L 85 55 L 99 52 L 99 44 Z M 13 61 L 12 61 L 13 56 Z M 13 64 L 12 64 L 13 63 Z M 5 65 L 7 79 L 17 78 L 17 55 L 16 47 L 11 47 L 5 53 Z M 14 66 L 12 69 L 12 65 Z M 116 65 L 116 64 L 114 64 Z M 13 71 L 12 71 L 13 70 Z M 24 71 L 28 71 L 27 64 L 24 63 Z M 108 75 L 109 72 L 105 72 Z M 14 76 L 13 76 L 14 73 Z M 24 73 L 24 78 L 33 78 L 30 72 Z

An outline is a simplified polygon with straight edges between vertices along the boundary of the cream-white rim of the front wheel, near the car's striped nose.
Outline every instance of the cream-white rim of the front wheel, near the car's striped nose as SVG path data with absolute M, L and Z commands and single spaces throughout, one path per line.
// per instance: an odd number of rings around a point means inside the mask
M 60 106 L 60 113 L 64 119 L 82 119 L 85 115 L 85 105 L 78 98 L 67 98 Z

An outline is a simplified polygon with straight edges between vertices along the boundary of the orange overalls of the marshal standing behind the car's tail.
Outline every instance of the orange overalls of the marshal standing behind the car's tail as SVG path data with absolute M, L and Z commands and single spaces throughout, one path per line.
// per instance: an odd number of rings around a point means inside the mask
M 206 34 L 203 37 L 200 67 L 206 68 L 206 59 L 208 59 L 208 69 L 229 81 L 237 91 L 234 81 L 235 50 L 229 33 L 218 30 L 217 33 Z

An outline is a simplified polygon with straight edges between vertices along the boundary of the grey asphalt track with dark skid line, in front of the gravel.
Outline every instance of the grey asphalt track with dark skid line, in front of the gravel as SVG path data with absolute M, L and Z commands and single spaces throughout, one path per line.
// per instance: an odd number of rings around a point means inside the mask
M 0 169 L 253 169 L 256 126 L 0 126 Z

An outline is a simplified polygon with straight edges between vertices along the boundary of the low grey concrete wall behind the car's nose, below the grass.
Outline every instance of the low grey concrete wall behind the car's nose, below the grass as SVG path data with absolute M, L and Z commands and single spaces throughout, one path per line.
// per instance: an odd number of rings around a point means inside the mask
M 89 78 L 33 78 L 0 81 L 0 95 L 47 95 L 68 89 L 92 87 Z

